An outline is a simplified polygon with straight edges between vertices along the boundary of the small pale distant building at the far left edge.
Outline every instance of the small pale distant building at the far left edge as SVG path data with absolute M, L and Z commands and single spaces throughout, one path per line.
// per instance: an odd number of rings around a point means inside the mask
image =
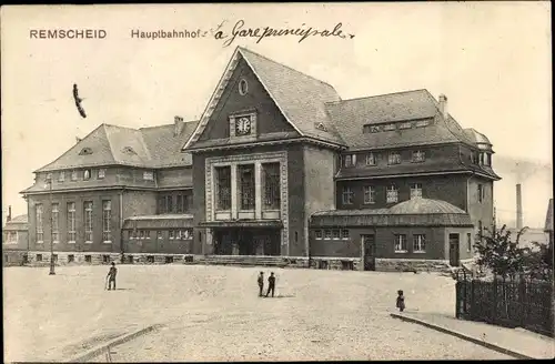
M 11 218 L 10 206 L 6 225 L 2 229 L 2 262 L 4 265 L 22 265 L 28 262 L 28 232 L 27 214 Z

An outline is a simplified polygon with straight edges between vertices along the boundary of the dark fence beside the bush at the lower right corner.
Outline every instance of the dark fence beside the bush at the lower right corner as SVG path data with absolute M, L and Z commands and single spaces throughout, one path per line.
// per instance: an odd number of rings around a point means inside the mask
M 554 337 L 553 281 L 519 276 L 515 280 L 477 280 L 457 275 L 457 318 L 505 327 L 523 327 Z

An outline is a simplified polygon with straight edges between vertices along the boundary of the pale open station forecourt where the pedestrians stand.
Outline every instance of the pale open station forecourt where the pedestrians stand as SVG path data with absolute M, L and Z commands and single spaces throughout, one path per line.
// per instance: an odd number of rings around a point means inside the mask
M 454 281 L 436 274 L 273 269 L 276 296 L 258 297 L 270 269 L 122 265 L 4 269 L 6 361 L 60 361 L 144 326 L 167 327 L 113 348 L 112 361 L 508 358 L 392 318 L 450 313 Z M 102 361 L 102 357 L 95 358 Z

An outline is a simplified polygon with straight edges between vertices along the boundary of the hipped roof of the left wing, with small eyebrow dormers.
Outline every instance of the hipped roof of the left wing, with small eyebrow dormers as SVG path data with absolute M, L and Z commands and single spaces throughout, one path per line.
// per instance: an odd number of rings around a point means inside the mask
M 191 165 L 190 153 L 180 151 L 198 121 L 184 122 L 179 134 L 175 125 L 131 129 L 101 124 L 69 151 L 36 172 L 100 165 L 164 168 Z

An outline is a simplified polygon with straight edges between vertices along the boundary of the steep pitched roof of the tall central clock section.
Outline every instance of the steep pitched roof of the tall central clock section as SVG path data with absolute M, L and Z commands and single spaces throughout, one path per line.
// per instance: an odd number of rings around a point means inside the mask
M 325 109 L 326 102 L 341 100 L 333 87 L 245 48 L 238 47 L 196 130 L 183 145 L 183 150 L 194 145 L 199 140 L 241 58 L 246 61 L 283 117 L 301 135 L 340 145 L 345 144 L 335 125 L 329 119 Z M 324 128 L 319 128 L 319 124 Z

